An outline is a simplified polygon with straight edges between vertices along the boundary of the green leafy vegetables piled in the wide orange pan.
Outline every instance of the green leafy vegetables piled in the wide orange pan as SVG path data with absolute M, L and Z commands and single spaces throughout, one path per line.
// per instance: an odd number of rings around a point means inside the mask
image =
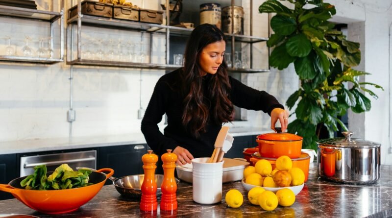
M 34 173 L 21 181 L 21 186 L 28 190 L 60 190 L 93 185 L 89 183 L 92 171 L 80 169 L 73 171 L 68 164 L 62 164 L 47 176 L 46 165 L 34 167 Z

